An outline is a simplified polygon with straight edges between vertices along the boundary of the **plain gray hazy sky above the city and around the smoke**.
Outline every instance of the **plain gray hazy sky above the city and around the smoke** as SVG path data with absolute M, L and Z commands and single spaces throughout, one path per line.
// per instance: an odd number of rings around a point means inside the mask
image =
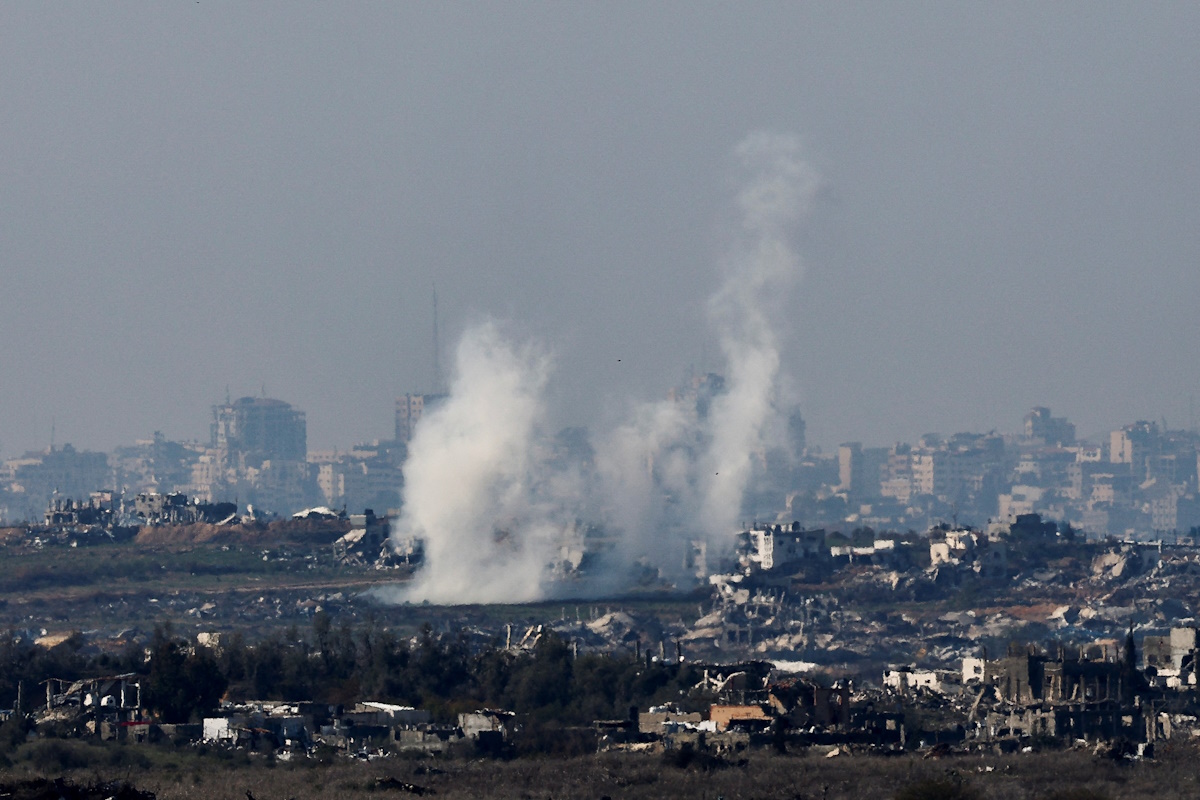
M 786 363 L 810 439 L 1188 423 L 1196 4 L 0 5 L 0 456 L 287 399 L 386 438 L 462 327 L 564 423 L 716 366 L 731 149 L 824 188 Z M 784 320 L 781 320 L 781 324 Z M 620 359 L 620 362 L 617 362 Z

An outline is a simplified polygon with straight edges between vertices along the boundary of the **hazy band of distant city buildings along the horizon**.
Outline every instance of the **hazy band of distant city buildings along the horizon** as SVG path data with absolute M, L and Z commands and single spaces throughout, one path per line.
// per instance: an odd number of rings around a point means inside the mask
M 494 419 L 512 413 L 498 405 L 487 387 L 455 391 L 482 397 Z M 661 473 L 650 467 L 647 471 L 647 464 L 659 458 L 643 462 L 635 452 L 620 475 L 644 474 L 653 485 L 650 495 L 670 497 L 670 483 L 659 479 L 677 475 L 680 457 L 692 464 L 700 461 L 697 453 L 719 439 L 703 426 L 713 422 L 719 409 L 728 408 L 736 392 L 713 373 L 672 389 L 666 403 L 655 407 L 655 416 L 679 414 L 679 420 L 701 426 L 689 428 L 696 437 L 662 450 L 672 469 Z M 202 504 L 232 501 L 232 509 L 241 503 L 266 515 L 287 516 L 314 504 L 403 515 L 409 501 L 427 505 L 431 487 L 442 492 L 454 483 L 431 475 L 431 464 L 468 469 L 472 464 L 463 456 L 476 451 L 478 439 L 497 435 L 472 428 L 474 421 L 460 427 L 462 402 L 455 393 L 404 395 L 396 399 L 395 440 L 308 450 L 302 409 L 278 398 L 228 399 L 211 409 L 208 441 L 174 441 L 156 432 L 110 452 L 62 443 L 53 450 L 0 459 L 0 521 L 38 519 L 47 504 L 56 512 L 72 501 L 89 507 L 124 504 L 143 493 L 170 494 L 178 503 L 186 498 Z M 420 420 L 432 409 L 444 413 L 425 431 Z M 805 519 L 835 530 L 924 530 L 948 519 L 982 528 L 1039 515 L 1090 536 L 1140 539 L 1190 535 L 1200 525 L 1200 433 L 1171 431 L 1154 421 L 1129 421 L 1085 440 L 1068 417 L 1034 407 L 1015 432 L 929 433 L 887 446 L 852 440 L 824 452 L 804 450 L 804 428 L 798 417 L 788 419 L 786 432 L 780 431 L 782 439 L 763 440 L 764 450 L 750 456 L 744 491 L 726 498 L 721 509 L 703 512 L 710 519 L 727 517 L 718 519 L 718 533 L 734 527 L 738 518 Z M 448 431 L 454 433 L 446 437 Z M 505 447 L 496 457 L 505 469 L 536 475 L 532 485 L 548 486 L 570 475 L 595 481 L 611 474 L 613 432 L 581 431 L 530 432 L 532 439 L 522 446 L 536 455 Z M 660 428 L 652 438 L 667 431 Z M 408 494 L 408 482 L 415 494 Z M 557 501 L 588 515 L 594 524 L 612 524 L 635 539 L 655 529 L 653 519 L 613 516 L 628 500 L 647 497 L 635 485 L 614 487 L 599 505 L 589 500 L 601 498 L 595 486 L 566 480 L 563 487 L 566 494 Z M 467 494 L 462 486 L 454 487 L 448 495 L 450 507 L 460 507 Z M 508 518 L 490 499 L 476 505 L 484 521 L 467 525 L 473 531 L 490 531 L 488 519 L 497 513 Z M 692 529 L 683 525 L 683 530 Z M 409 539 L 426 541 L 424 535 Z M 540 561 L 535 558 L 534 564 Z

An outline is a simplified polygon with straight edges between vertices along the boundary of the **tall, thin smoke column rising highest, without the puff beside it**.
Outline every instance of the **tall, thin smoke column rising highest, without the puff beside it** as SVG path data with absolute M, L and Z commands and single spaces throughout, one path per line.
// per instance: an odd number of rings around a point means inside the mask
M 788 230 L 820 186 L 796 137 L 754 133 L 734 151 L 750 180 L 738 194 L 742 237 L 726 259 L 725 283 L 708 302 L 726 365 L 726 392 L 709 410 L 712 437 L 702 473 L 700 525 L 709 540 L 734 530 L 756 452 L 778 415 L 785 299 L 803 269 Z

